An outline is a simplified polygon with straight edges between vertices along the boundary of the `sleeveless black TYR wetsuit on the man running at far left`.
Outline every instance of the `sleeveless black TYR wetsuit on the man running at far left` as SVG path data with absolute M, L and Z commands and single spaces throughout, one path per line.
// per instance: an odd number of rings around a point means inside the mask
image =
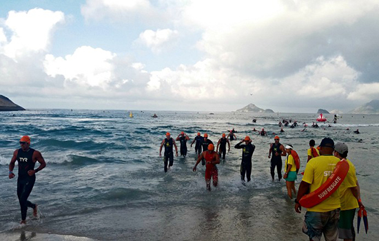
M 25 220 L 28 207 L 34 209 L 36 205 L 28 201 L 28 197 L 32 192 L 36 176 L 29 176 L 28 171 L 34 169 L 33 163 L 34 149 L 23 151 L 21 148 L 17 153 L 17 161 L 19 162 L 19 177 L 17 178 L 17 196 L 19 197 L 21 207 L 21 220 Z

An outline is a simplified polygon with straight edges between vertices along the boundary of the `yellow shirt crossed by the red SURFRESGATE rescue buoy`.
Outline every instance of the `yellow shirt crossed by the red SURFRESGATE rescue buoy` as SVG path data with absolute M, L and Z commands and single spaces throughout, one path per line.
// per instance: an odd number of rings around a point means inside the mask
M 331 175 L 340 161 L 336 156 L 318 156 L 311 158 L 305 167 L 303 181 L 310 184 L 310 192 L 315 191 Z M 318 205 L 310 207 L 307 211 L 327 212 L 341 207 L 339 188 Z

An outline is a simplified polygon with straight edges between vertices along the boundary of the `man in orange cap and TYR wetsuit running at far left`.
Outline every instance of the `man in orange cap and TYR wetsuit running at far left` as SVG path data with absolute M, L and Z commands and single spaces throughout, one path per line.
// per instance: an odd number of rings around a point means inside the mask
M 30 137 L 23 136 L 19 141 L 21 148 L 13 152 L 12 159 L 9 164 L 9 178 L 16 176 L 13 173 L 14 165 L 19 163 L 19 176 L 17 178 L 17 197 L 19 198 L 21 207 L 21 224 L 26 224 L 26 212 L 28 207 L 33 209 L 33 216 L 37 217 L 37 205 L 28 201 L 28 197 L 32 192 L 34 182 L 36 181 L 37 172 L 46 167 L 45 160 L 41 152 L 30 148 Z M 39 167 L 34 169 L 35 164 L 39 162 Z

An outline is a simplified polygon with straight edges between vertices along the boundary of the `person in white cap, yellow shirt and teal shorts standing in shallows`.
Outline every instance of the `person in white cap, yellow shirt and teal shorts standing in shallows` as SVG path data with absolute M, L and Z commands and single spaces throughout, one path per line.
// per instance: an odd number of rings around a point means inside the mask
M 290 199 L 292 199 L 292 191 L 294 191 L 296 195 L 295 180 L 297 179 L 295 159 L 294 159 L 294 156 L 291 155 L 292 149 L 293 147 L 291 145 L 285 146 L 285 151 L 287 152 L 287 158 L 285 159 L 285 174 L 283 176 L 283 178 L 285 178 L 287 194 Z

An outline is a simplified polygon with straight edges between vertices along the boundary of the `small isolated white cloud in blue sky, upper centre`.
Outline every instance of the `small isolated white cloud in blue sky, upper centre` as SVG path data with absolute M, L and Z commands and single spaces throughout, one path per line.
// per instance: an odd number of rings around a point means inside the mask
M 163 48 L 168 48 L 172 45 L 172 42 L 178 37 L 178 31 L 164 29 L 164 30 L 145 30 L 139 34 L 139 39 L 136 42 L 140 42 L 150 48 L 152 52 L 159 53 Z

